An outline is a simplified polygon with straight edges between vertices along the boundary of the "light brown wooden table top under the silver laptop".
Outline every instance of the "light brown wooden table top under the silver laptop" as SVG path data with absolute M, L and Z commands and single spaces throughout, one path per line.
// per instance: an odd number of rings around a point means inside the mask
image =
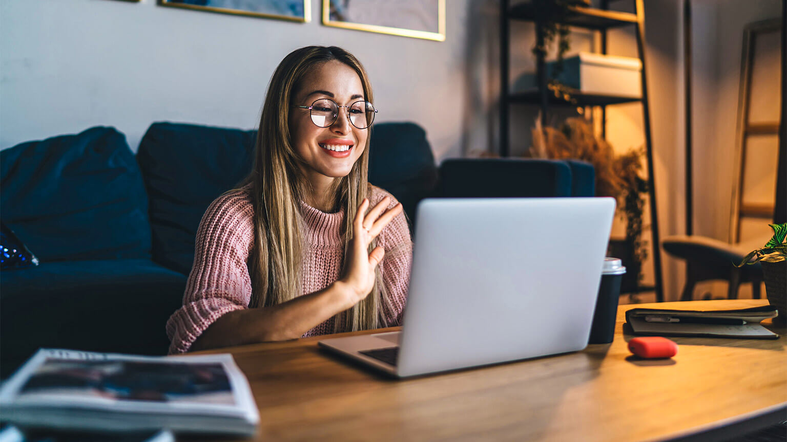
M 323 337 L 221 352 L 235 356 L 257 400 L 252 440 L 719 440 L 787 418 L 787 330 L 767 320 L 778 340 L 674 337 L 674 358 L 637 360 L 624 314 L 763 304 L 622 305 L 611 344 L 406 380 L 318 349 Z

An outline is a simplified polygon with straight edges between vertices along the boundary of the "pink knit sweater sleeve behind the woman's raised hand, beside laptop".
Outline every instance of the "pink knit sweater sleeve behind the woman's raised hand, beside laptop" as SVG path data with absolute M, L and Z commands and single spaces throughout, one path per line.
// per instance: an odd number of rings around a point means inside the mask
M 389 208 L 399 203 L 393 195 L 378 187 L 372 190 L 371 201 L 376 203 L 386 196 L 391 198 Z M 373 207 L 374 204 L 371 206 Z M 378 245 L 381 245 L 386 251 L 380 265 L 382 266 L 382 281 L 390 300 L 390 308 L 383 308 L 383 314 L 386 316 L 389 326 L 401 326 L 412 265 L 412 239 L 404 211 L 396 215 L 380 232 Z

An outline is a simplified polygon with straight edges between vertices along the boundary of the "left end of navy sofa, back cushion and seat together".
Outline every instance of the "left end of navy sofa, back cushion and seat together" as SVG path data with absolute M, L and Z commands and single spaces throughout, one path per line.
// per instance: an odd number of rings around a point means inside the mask
M 150 259 L 142 175 L 93 127 L 0 152 L 2 220 L 39 257 L 0 272 L 0 377 L 39 347 L 163 354 L 186 277 Z M 155 325 L 155 326 L 153 326 Z

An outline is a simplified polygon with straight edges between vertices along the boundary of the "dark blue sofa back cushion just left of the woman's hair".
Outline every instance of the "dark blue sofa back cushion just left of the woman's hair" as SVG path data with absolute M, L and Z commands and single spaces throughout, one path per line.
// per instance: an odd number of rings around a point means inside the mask
M 153 260 L 188 274 L 202 215 L 251 171 L 257 131 L 153 123 L 137 161 L 150 200 Z

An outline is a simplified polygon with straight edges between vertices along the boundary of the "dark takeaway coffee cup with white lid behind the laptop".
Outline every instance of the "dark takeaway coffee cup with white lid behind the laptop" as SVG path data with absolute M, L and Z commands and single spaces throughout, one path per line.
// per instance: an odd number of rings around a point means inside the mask
M 593 326 L 590 327 L 588 344 L 607 344 L 615 337 L 615 317 L 618 315 L 620 281 L 626 267 L 617 258 L 604 258 L 601 271 L 601 285 L 598 289 L 596 312 L 593 313 Z

